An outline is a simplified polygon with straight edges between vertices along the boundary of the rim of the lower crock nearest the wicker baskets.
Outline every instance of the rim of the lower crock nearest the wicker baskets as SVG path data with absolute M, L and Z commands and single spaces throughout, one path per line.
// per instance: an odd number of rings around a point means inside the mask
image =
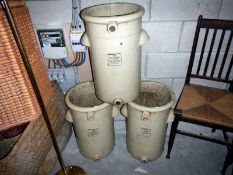
M 91 112 L 91 111 L 98 111 L 98 110 L 101 110 L 103 108 L 106 108 L 108 106 L 110 106 L 110 104 L 108 103 L 105 103 L 105 102 L 102 102 L 101 100 L 101 104 L 100 105 L 96 105 L 96 106 L 93 106 L 93 107 L 81 107 L 81 106 L 77 106 L 77 105 L 74 105 L 69 97 L 70 97 L 70 94 L 72 93 L 73 90 L 75 90 L 75 88 L 77 86 L 82 86 L 82 85 L 94 85 L 94 82 L 91 82 L 91 81 L 88 81 L 88 82 L 84 82 L 84 83 L 79 83 L 75 86 L 73 86 L 71 89 L 69 89 L 69 91 L 67 91 L 66 95 L 65 95 L 65 102 L 66 102 L 66 105 L 72 109 L 72 110 L 75 110 L 75 111 L 79 111 L 79 112 Z

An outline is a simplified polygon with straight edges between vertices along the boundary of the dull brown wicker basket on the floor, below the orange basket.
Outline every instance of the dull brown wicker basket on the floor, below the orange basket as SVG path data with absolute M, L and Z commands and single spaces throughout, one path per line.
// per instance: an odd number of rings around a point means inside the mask
M 55 93 L 46 106 L 60 148 L 71 136 L 71 125 L 64 116 L 64 96 L 55 85 Z M 42 116 L 29 123 L 9 155 L 0 161 L 0 175 L 49 174 L 57 157 Z

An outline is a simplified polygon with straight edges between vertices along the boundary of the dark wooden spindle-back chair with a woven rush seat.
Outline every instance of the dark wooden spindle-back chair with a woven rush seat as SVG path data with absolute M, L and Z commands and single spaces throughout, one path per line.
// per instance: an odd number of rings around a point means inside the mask
M 171 126 L 167 158 L 170 158 L 177 133 L 226 145 L 228 155 L 225 158 L 223 173 L 232 163 L 233 143 L 227 136 L 227 132 L 233 132 L 233 54 L 229 52 L 233 46 L 232 36 L 233 21 L 204 19 L 199 16 L 185 85 L 174 109 L 175 119 Z M 223 90 L 194 84 L 200 82 L 200 79 L 226 83 L 228 88 Z M 210 127 L 213 131 L 222 130 L 224 139 L 178 130 L 180 121 Z

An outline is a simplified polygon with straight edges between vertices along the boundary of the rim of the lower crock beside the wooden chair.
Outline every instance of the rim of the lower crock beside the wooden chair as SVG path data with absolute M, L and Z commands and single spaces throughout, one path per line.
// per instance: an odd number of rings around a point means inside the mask
M 171 106 L 173 105 L 173 103 L 175 101 L 175 95 L 174 95 L 174 92 L 172 92 L 171 89 L 167 85 L 165 85 L 161 82 L 157 82 L 157 81 L 141 81 L 141 83 L 156 83 L 156 84 L 160 84 L 160 85 L 164 86 L 171 94 L 170 101 L 168 103 L 166 103 L 165 105 L 157 106 L 157 107 L 142 106 L 142 105 L 139 105 L 139 104 L 132 101 L 132 102 L 128 103 L 129 106 L 136 108 L 140 111 L 148 111 L 148 112 L 160 112 L 160 111 L 164 111 L 166 109 L 171 108 Z

